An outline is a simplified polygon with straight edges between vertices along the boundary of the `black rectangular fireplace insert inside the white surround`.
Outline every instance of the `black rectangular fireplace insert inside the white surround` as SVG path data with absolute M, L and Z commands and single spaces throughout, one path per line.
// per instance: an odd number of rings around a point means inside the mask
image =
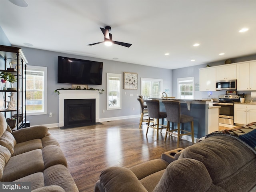
M 65 99 L 64 127 L 81 127 L 95 124 L 95 99 Z

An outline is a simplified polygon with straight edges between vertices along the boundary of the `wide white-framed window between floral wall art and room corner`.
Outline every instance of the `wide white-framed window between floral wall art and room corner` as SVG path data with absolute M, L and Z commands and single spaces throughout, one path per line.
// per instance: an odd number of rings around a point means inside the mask
M 144 99 L 160 98 L 162 87 L 162 79 L 141 78 L 141 95 L 144 97 Z

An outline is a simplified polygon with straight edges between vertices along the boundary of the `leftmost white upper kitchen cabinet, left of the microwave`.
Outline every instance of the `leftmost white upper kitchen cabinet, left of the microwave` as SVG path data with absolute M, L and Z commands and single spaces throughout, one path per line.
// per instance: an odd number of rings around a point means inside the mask
M 202 68 L 199 71 L 199 90 L 216 91 L 216 68 Z

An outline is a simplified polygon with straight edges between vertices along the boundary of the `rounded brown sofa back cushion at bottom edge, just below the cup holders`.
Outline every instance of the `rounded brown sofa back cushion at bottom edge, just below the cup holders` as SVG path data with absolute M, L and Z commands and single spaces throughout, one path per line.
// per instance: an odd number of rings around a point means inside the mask
M 154 192 L 197 192 L 210 191 L 212 188 L 216 189 L 215 192 L 224 192 L 222 188 L 212 184 L 212 179 L 202 162 L 186 158 L 176 160 L 166 168 Z

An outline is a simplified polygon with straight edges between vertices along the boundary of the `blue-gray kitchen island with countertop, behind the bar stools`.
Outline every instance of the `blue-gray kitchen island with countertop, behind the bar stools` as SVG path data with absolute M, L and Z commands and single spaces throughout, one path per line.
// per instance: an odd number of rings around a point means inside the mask
M 219 129 L 219 106 L 209 106 L 210 99 L 202 100 L 184 100 L 184 99 L 168 99 L 168 98 L 151 98 L 160 101 L 160 111 L 166 111 L 162 100 L 180 101 L 180 112 L 194 118 L 194 137 L 201 138 L 206 134 Z M 166 123 L 166 122 L 165 122 Z M 177 126 L 175 124 L 174 126 Z M 190 123 L 182 125 L 182 129 L 190 130 Z M 191 140 L 189 136 L 184 138 Z

